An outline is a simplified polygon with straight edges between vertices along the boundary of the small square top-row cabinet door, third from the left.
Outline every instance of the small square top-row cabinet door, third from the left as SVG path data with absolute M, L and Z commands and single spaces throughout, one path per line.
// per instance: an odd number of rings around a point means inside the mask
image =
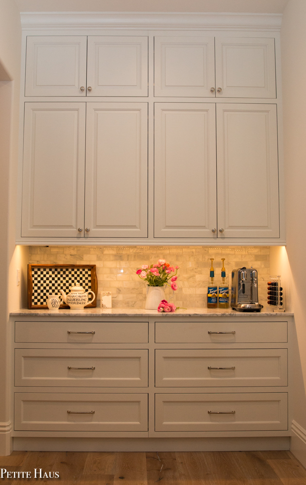
M 215 97 L 214 38 L 156 36 L 154 95 Z

